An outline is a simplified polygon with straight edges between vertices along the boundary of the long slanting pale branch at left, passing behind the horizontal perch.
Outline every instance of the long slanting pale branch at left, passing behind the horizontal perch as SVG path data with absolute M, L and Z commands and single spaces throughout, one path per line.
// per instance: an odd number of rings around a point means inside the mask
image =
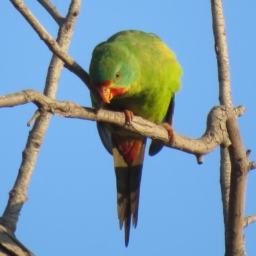
M 20 3 L 18 6 L 20 12 L 27 13 L 29 17 L 33 16 L 29 12 L 28 8 L 24 6 L 22 1 L 17 2 Z M 76 21 L 77 14 L 79 13 L 80 3 L 80 0 L 73 0 L 71 2 L 67 18 L 60 27 L 57 43 L 60 44 L 60 47 L 62 47 L 61 51 L 67 51 L 68 45 L 70 44 L 74 23 Z M 41 25 L 38 23 L 38 26 Z M 44 90 L 44 93 L 51 98 L 55 97 L 62 68 L 63 62 L 55 55 L 52 56 Z M 12 191 L 10 191 L 8 204 L 6 205 L 6 209 L 4 210 L 1 218 L 1 223 L 11 232 L 15 231 L 22 205 L 27 200 L 26 191 L 28 189 L 28 184 L 35 166 L 36 157 L 38 156 L 38 151 L 42 145 L 50 117 L 51 115 L 49 113 L 43 113 L 40 115 L 40 117 L 36 120 L 33 129 L 31 132 L 29 132 L 26 148 L 22 152 L 22 163 L 20 164 L 19 174 Z

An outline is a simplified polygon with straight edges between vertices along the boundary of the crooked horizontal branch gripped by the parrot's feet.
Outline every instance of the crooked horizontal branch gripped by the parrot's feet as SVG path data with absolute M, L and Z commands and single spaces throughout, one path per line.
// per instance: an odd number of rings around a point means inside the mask
M 134 116 L 131 124 L 127 126 L 125 125 L 124 113 L 112 112 L 106 109 L 95 111 L 95 109 L 84 108 L 73 102 L 51 99 L 35 90 L 24 90 L 0 97 L 0 108 L 17 106 L 28 102 L 34 102 L 42 113 L 49 112 L 68 118 L 109 122 L 148 138 L 159 140 L 167 147 L 195 154 L 196 156 L 208 154 L 218 145 L 228 144 L 226 122 L 230 115 L 234 115 L 234 111 L 230 111 L 225 106 L 214 107 L 207 118 L 207 130 L 202 138 L 195 140 L 175 132 L 175 142 L 170 145 L 168 132 L 163 127 L 141 117 Z M 240 115 L 244 110 L 241 106 L 236 109 Z

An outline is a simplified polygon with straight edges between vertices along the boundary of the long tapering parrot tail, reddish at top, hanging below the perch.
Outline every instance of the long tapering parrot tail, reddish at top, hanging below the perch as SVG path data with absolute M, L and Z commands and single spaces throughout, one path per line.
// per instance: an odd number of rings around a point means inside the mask
M 112 135 L 112 144 L 119 226 L 120 229 L 123 225 L 125 227 L 125 246 L 127 247 L 131 218 L 132 226 L 136 228 L 138 223 L 140 182 L 146 138 Z

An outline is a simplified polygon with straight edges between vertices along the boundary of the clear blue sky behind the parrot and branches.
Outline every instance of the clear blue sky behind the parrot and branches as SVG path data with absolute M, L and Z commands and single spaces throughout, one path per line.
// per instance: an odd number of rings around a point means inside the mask
M 223 1 L 232 97 L 248 111 L 239 118 L 244 147 L 256 160 L 256 2 Z M 58 26 L 36 1 L 25 1 L 56 37 Z M 65 15 L 69 1 L 52 1 Z M 0 95 L 44 90 L 52 53 L 10 1 L 0 1 Z M 218 102 L 218 74 L 209 1 L 83 1 L 68 53 L 86 70 L 95 45 L 117 31 L 140 29 L 159 35 L 182 65 L 174 129 L 192 138 L 205 131 Z M 58 100 L 90 106 L 86 86 L 68 70 Z M 33 104 L 1 109 L 0 211 L 17 177 L 31 128 Z M 148 143 L 149 144 L 149 143 Z M 198 166 L 194 156 L 164 148 L 145 157 L 138 227 L 129 247 L 118 227 L 113 159 L 101 145 L 95 122 L 52 116 L 20 213 L 16 236 L 31 252 L 51 255 L 223 255 L 220 149 Z M 256 173 L 249 175 L 246 214 L 256 214 Z M 256 224 L 245 229 L 246 251 L 255 255 Z

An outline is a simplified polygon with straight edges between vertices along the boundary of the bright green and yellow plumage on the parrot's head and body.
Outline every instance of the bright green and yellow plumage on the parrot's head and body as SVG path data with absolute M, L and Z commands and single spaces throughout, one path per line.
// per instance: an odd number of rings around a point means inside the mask
M 122 31 L 95 47 L 91 81 L 115 79 L 118 70 L 125 77 L 116 85 L 130 90 L 111 101 L 113 108 L 129 109 L 134 115 L 161 123 L 170 99 L 180 89 L 182 71 L 175 54 L 154 34 Z

